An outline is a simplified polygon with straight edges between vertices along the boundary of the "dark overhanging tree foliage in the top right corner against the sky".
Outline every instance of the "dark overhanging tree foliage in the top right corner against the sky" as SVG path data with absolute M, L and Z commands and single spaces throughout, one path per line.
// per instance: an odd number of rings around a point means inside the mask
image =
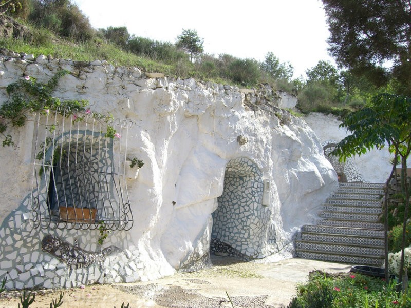
M 396 79 L 411 95 L 411 3 L 408 0 L 323 0 L 329 51 L 337 62 L 377 86 Z

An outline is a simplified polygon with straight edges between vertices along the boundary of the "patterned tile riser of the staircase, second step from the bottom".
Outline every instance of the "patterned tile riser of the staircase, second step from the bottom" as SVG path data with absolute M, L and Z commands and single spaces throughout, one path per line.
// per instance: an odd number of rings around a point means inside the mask
M 353 246 L 353 245 L 296 241 L 295 247 L 301 250 L 335 253 L 335 254 L 349 254 L 349 255 L 354 255 L 354 256 L 358 256 L 358 255 L 383 256 L 384 255 L 384 248 L 361 247 L 361 246 Z

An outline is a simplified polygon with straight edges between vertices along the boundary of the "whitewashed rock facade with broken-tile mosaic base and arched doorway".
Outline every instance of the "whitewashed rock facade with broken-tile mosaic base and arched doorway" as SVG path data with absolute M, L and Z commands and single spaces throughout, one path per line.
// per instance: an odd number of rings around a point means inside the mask
M 54 95 L 133 121 L 127 154 L 144 161 L 127 181 L 133 227 L 111 232 L 101 247 L 98 230 L 31 227 L 33 133 L 30 125 L 12 129 L 17 147 L 0 151 L 0 279 L 8 289 L 156 279 L 206 262 L 212 236 L 250 259 L 291 257 L 293 233 L 337 185 L 314 132 L 259 93 L 148 78 L 101 61 L 0 59 L 0 102 L 24 75 L 47 81 L 68 70 Z M 89 252 L 121 251 L 74 268 L 42 250 L 48 235 Z

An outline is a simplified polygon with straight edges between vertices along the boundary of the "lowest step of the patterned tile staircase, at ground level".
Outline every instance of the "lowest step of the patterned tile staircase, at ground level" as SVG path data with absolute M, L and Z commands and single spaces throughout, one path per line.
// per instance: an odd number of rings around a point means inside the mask
M 372 265 L 382 266 L 384 259 L 381 257 L 360 257 L 360 256 L 347 256 L 337 254 L 316 253 L 307 251 L 297 251 L 297 256 L 304 259 L 332 261 L 339 263 L 360 264 L 360 265 Z

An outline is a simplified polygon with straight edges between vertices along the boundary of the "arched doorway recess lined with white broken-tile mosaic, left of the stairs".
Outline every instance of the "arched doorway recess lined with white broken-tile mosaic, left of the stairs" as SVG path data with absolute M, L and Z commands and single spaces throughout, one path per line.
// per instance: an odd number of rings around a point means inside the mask
M 262 206 L 262 173 L 250 159 L 228 162 L 224 190 L 213 213 L 211 252 L 218 255 L 257 258 L 266 233 L 270 211 Z

